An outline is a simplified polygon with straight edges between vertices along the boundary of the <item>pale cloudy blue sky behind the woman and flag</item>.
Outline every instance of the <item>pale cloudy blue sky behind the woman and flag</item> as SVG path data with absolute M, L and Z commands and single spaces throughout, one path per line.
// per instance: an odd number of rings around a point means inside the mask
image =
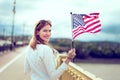
M 11 34 L 13 2 L 14 0 L 0 0 L 0 34 Z M 52 38 L 71 39 L 70 12 L 99 12 L 101 32 L 84 33 L 76 40 L 120 42 L 119 3 L 119 0 L 16 0 L 14 35 L 32 35 L 35 24 L 46 19 L 52 22 Z

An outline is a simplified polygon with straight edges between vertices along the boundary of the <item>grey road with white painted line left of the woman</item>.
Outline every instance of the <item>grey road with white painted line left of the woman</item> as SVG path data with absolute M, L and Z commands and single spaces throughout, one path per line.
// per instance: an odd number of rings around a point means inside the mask
M 0 80 L 30 80 L 29 75 L 24 75 L 25 48 L 0 55 Z

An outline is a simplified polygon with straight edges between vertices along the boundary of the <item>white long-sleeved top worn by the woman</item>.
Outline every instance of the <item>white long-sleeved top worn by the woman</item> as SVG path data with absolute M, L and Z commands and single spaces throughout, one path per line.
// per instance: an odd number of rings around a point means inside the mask
M 67 64 L 62 63 L 56 69 L 53 50 L 44 44 L 37 44 L 33 50 L 28 46 L 25 57 L 25 74 L 31 73 L 31 80 L 57 80 L 67 69 Z

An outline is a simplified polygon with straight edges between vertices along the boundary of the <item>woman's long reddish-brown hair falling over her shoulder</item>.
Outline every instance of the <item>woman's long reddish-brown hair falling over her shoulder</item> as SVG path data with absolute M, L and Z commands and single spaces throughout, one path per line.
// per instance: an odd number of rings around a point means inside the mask
M 46 25 L 51 25 L 51 21 L 50 20 L 40 20 L 35 28 L 34 28 L 34 35 L 32 36 L 31 40 L 30 40 L 30 47 L 33 49 L 36 49 L 36 45 L 37 44 L 45 44 L 44 41 L 39 37 L 39 35 L 37 35 L 37 32 L 40 31 L 44 26 Z

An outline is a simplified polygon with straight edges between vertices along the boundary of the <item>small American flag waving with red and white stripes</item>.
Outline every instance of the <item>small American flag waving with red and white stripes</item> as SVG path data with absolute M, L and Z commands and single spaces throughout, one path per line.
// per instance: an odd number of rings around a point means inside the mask
M 99 13 L 71 14 L 72 15 L 72 39 L 82 33 L 97 33 L 101 31 Z

